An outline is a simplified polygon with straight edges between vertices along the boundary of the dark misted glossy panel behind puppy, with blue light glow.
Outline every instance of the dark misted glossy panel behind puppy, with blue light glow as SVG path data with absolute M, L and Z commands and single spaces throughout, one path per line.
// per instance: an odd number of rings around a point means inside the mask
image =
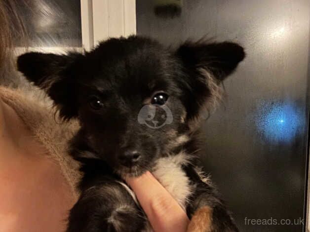
M 137 0 L 138 35 L 173 46 L 206 36 L 245 47 L 224 83 L 224 103 L 202 123 L 202 161 L 241 231 L 301 232 L 302 225 L 245 219 L 304 217 L 310 2 L 183 0 L 180 15 L 168 17 L 155 15 L 156 2 Z

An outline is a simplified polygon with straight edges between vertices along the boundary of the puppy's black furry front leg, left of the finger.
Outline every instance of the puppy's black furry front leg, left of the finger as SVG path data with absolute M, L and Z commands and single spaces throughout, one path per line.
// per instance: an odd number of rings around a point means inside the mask
M 70 211 L 67 232 L 138 232 L 146 217 L 122 185 L 112 182 L 84 191 Z

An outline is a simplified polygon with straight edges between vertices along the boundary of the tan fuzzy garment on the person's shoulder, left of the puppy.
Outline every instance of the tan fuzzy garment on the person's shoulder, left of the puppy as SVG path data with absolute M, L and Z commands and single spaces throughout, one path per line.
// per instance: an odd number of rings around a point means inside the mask
M 33 91 L 36 91 L 33 89 Z M 23 89 L 11 89 L 0 86 L 0 98 L 11 106 L 25 125 L 34 133 L 38 141 L 48 151 L 51 158 L 55 159 L 72 189 L 73 196 L 77 198 L 77 183 L 81 174 L 79 164 L 68 154 L 68 141 L 78 129 L 75 120 L 61 122 L 55 110 L 51 107 L 47 97 L 38 97 L 36 94 Z

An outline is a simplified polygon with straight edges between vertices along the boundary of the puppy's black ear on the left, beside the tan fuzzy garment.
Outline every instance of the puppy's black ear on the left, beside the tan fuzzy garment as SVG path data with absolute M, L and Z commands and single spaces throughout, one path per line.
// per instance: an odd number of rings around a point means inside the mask
M 46 91 L 54 100 L 61 117 L 70 119 L 77 116 L 74 77 L 78 72 L 77 61 L 82 57 L 79 53 L 56 55 L 29 52 L 18 57 L 17 69 Z

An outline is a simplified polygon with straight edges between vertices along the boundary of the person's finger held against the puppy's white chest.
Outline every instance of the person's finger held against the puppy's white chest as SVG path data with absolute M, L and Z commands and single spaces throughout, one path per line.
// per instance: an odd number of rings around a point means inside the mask
M 127 178 L 126 182 L 136 193 L 155 232 L 186 232 L 186 213 L 150 172 Z

